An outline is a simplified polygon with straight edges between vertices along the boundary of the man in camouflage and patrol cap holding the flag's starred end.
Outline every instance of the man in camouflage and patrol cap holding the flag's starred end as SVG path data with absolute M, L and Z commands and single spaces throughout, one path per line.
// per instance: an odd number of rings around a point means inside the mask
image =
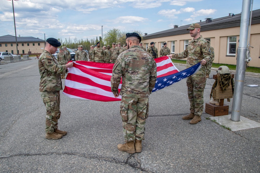
M 192 119 L 190 124 L 197 124 L 201 121 L 203 113 L 203 92 L 206 85 L 206 63 L 210 61 L 210 45 L 200 35 L 200 25 L 193 23 L 186 30 L 190 30 L 193 40 L 188 44 L 184 52 L 168 55 L 171 58 L 187 58 L 187 68 L 200 62 L 202 65 L 199 71 L 187 77 L 188 97 L 190 100 L 190 114 L 182 119 Z

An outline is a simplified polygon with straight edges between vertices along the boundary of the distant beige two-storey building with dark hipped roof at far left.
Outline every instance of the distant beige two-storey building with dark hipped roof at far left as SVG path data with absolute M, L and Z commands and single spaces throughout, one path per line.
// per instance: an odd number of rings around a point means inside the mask
M 25 55 L 31 52 L 33 54 L 41 54 L 45 47 L 45 41 L 35 37 L 17 37 L 17 48 L 15 36 L 0 36 L 0 52 L 10 52 L 12 54 Z

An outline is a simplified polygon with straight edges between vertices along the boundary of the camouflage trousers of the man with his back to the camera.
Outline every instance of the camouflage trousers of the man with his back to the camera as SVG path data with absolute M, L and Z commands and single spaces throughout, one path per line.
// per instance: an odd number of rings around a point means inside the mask
M 125 142 L 144 140 L 145 120 L 148 117 L 149 98 L 122 97 L 120 115 L 123 121 Z

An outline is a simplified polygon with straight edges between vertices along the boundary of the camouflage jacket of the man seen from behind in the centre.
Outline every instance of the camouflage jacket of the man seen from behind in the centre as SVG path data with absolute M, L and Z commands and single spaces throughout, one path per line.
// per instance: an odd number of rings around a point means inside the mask
M 110 79 L 113 94 L 118 93 L 121 76 L 122 97 L 148 97 L 157 79 L 156 63 L 152 55 L 147 54 L 139 46 L 132 46 L 120 54 L 115 61 Z

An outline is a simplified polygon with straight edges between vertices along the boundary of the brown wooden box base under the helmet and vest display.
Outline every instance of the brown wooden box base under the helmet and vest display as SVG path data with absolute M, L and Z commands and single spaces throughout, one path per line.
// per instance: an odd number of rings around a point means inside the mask
M 228 115 L 229 105 L 224 104 L 223 106 L 218 106 L 211 103 L 206 103 L 205 112 L 212 116 L 222 116 Z

